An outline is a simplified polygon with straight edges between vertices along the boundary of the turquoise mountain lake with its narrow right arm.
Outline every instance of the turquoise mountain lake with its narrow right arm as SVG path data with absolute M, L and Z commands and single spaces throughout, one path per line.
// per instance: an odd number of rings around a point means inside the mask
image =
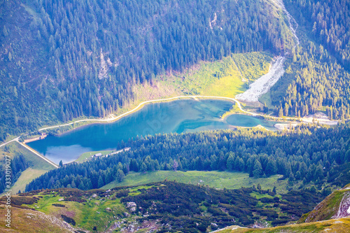
M 60 136 L 48 136 L 44 140 L 28 143 L 56 164 L 76 160 L 88 151 L 116 149 L 120 141 L 159 133 L 196 132 L 210 129 L 231 129 L 235 126 L 254 127 L 262 125 L 272 129 L 276 122 L 269 122 L 248 115 L 229 115 L 233 103 L 222 100 L 176 100 L 144 106 L 113 123 L 93 124 L 74 129 Z

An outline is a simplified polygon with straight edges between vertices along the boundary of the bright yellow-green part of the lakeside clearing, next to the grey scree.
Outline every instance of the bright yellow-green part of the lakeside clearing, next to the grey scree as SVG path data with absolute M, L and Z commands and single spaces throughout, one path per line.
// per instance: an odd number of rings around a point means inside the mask
M 248 85 L 267 73 L 270 55 L 263 52 L 248 52 L 224 57 L 217 62 L 202 62 L 199 68 L 169 77 L 183 94 L 235 97 Z

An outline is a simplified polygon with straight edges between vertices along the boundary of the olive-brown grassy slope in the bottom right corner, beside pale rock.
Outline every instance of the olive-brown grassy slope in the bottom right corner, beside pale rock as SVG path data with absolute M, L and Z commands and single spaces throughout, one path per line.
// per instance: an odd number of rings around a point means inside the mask
M 344 196 L 350 197 L 350 185 L 346 185 L 342 190 L 335 190 L 331 195 L 326 197 L 323 202 L 318 204 L 317 208 L 309 213 L 305 213 L 298 223 L 310 223 L 316 221 L 329 220 L 332 216 L 336 216 L 339 206 Z M 345 210 L 347 211 L 347 209 Z

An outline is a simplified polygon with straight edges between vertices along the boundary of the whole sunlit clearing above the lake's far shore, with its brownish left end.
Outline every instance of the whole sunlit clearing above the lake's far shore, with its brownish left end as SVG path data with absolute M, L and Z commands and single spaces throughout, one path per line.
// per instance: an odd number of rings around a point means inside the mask
M 267 52 L 248 52 L 224 57 L 216 62 L 200 62 L 182 73 L 160 76 L 153 85 L 135 87 L 134 105 L 179 94 L 235 97 L 248 87 L 242 78 L 253 82 L 267 73 L 271 60 L 272 55 Z

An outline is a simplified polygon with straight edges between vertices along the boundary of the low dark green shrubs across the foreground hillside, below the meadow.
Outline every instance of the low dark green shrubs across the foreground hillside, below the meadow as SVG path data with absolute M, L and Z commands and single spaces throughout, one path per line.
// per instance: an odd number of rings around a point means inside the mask
M 252 225 L 262 219 L 271 220 L 273 225 L 286 223 L 302 216 L 302 213 L 311 211 L 318 202 L 321 202 L 321 192 L 309 192 L 299 190 L 288 192 L 279 197 L 274 196 L 270 190 L 257 188 L 241 188 L 239 190 L 217 190 L 200 185 L 187 185 L 176 182 L 159 182 L 147 184 L 137 188 L 119 187 L 112 190 L 77 190 L 77 189 L 54 189 L 31 191 L 20 196 L 13 197 L 13 202 L 21 204 L 33 204 L 45 195 L 64 197 L 71 202 L 86 202 L 92 195 L 97 199 L 109 197 L 120 198 L 120 202 L 127 207 L 127 202 L 135 202 L 137 211 L 130 212 L 133 220 L 142 223 L 144 220 L 160 220 L 160 231 L 169 232 L 181 230 L 182 232 L 206 232 L 209 227 L 215 230 L 218 227 L 228 225 Z M 130 190 L 137 190 L 137 194 L 128 195 Z M 39 197 L 33 197 L 38 195 Z M 266 198 L 256 199 L 252 194 L 272 195 Z M 0 199 L 3 202 L 5 197 Z M 25 201 L 24 201 L 25 199 Z M 62 206 L 62 204 L 54 204 Z M 279 206 L 285 212 L 279 216 Z M 113 208 L 113 206 L 111 206 Z M 139 213 L 140 212 L 140 213 Z M 97 214 L 97 213 L 96 213 Z M 146 215 L 146 216 L 145 216 Z M 73 218 L 62 218 L 73 224 Z M 97 216 L 98 218 L 98 216 Z M 215 223 L 212 225 L 211 223 Z

